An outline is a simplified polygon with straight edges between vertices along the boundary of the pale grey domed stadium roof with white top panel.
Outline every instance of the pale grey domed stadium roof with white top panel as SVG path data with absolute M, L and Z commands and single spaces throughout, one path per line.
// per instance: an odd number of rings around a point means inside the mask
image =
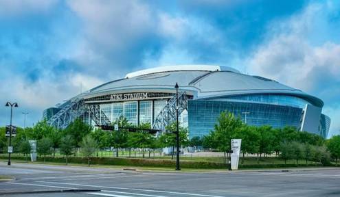
M 324 105 L 321 99 L 277 81 L 244 75 L 234 68 L 205 65 L 165 66 L 140 70 L 129 73 L 124 79 L 104 83 L 79 96 L 91 98 L 115 92 L 173 91 L 175 83 L 179 84 L 181 90 L 192 92 L 194 99 L 242 94 L 285 94 L 298 96 L 319 107 Z

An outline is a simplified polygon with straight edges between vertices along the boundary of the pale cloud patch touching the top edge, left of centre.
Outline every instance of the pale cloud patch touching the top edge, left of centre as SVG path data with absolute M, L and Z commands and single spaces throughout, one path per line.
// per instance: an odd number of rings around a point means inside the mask
M 122 49 L 150 32 L 152 13 L 138 1 L 67 1 L 83 21 L 90 42 L 104 49 Z

